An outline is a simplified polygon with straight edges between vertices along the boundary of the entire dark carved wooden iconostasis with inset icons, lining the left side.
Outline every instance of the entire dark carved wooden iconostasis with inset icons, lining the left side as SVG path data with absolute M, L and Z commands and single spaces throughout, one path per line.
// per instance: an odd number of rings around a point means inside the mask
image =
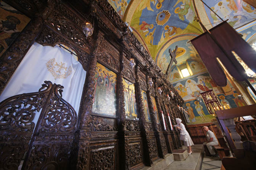
M 3 1 L 31 20 L 0 56 L 1 93 L 34 43 L 66 45 L 86 78 L 77 111 L 62 99 L 68 89 L 47 79 L 0 103 L 0 169 L 128 170 L 181 147 L 171 125 L 175 118 L 186 125 L 184 101 L 107 0 Z M 94 23 L 90 37 L 85 21 Z

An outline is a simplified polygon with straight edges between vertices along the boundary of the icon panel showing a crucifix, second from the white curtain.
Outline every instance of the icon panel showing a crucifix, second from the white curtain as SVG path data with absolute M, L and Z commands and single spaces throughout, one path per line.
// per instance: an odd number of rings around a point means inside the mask
M 135 99 L 134 84 L 123 79 L 123 89 L 125 94 L 125 117 L 126 119 L 139 120 L 138 106 Z

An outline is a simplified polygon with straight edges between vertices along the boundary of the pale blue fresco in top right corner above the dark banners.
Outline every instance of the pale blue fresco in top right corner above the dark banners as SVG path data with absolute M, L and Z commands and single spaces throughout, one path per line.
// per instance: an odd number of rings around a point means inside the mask
M 216 12 L 223 20 L 228 19 L 228 23 L 234 27 L 240 27 L 256 18 L 256 9 L 242 0 L 211 0 L 207 1 L 207 5 Z M 199 6 L 197 6 L 200 9 Z M 218 16 L 214 14 L 207 6 L 204 5 L 209 22 L 216 26 L 221 22 Z M 199 10 L 200 14 L 203 14 Z M 203 22 L 203 24 L 205 24 Z

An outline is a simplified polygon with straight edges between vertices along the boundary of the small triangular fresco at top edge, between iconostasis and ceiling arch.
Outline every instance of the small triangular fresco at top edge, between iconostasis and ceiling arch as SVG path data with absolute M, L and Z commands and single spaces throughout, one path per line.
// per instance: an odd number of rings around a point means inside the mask
M 123 18 L 125 10 L 128 7 L 131 0 L 107 0 L 109 4 L 114 8 L 118 15 Z

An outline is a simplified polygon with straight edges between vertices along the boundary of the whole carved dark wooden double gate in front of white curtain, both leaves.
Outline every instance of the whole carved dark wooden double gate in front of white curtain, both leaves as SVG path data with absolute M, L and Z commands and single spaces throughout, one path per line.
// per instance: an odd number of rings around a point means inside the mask
M 1 170 L 18 170 L 26 152 L 23 170 L 67 169 L 77 114 L 62 99 L 62 88 L 45 81 L 38 92 L 0 103 Z

